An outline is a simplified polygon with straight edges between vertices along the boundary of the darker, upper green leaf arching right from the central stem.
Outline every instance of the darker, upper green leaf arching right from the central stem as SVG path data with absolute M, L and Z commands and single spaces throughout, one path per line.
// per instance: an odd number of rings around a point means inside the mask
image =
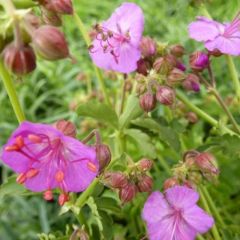
M 162 141 L 167 142 L 175 151 L 180 151 L 181 144 L 178 134 L 168 126 L 162 126 L 151 118 L 138 118 L 132 121 L 133 124 L 146 128 L 153 133 L 159 134 Z

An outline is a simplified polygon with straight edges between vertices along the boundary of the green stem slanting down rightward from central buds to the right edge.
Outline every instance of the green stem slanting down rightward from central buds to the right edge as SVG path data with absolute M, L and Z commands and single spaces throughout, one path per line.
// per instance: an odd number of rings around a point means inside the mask
M 187 107 L 189 107 L 193 112 L 195 112 L 198 116 L 200 116 L 202 119 L 204 119 L 206 122 L 208 122 L 209 124 L 211 124 L 213 127 L 219 128 L 219 124 L 218 121 L 216 119 L 214 119 L 213 117 L 211 117 L 210 115 L 208 115 L 206 112 L 204 112 L 202 109 L 198 108 L 197 106 L 195 106 L 193 103 L 191 103 L 187 97 L 181 93 L 180 91 L 177 91 L 177 98 L 179 100 L 181 100 Z M 231 129 L 229 129 L 226 126 L 222 126 L 222 129 L 224 131 L 226 131 L 229 134 L 236 134 L 235 132 L 233 132 Z

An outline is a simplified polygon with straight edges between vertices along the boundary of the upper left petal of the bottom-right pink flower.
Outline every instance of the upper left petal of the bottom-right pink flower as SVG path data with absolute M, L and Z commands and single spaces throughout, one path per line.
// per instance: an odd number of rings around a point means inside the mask
M 148 223 L 160 221 L 169 214 L 169 205 L 160 192 L 153 192 L 144 204 L 142 218 Z

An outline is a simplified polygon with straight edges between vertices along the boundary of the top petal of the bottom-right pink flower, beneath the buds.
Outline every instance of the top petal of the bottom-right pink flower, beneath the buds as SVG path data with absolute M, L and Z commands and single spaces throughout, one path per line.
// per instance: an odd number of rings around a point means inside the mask
M 166 199 L 170 205 L 176 208 L 187 209 L 196 204 L 199 195 L 191 188 L 175 186 L 166 191 Z

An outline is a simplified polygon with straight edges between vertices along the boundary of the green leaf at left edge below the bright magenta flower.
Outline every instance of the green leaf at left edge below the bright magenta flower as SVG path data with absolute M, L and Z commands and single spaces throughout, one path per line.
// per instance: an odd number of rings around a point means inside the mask
M 5 196 L 23 195 L 27 190 L 16 183 L 16 176 L 8 178 L 8 181 L 0 186 L 0 199 Z

